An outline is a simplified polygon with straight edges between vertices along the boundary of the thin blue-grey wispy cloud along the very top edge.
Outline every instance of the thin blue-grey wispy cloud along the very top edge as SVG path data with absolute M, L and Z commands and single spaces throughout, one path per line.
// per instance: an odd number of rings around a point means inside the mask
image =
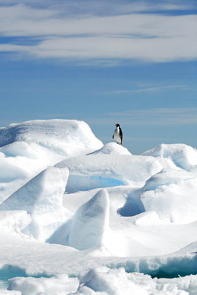
M 0 0 L 0 3 L 8 6 L 19 4 L 19 1 Z M 154 0 L 116 0 L 113 1 L 113 5 L 110 0 L 20 0 L 20 3 L 37 9 L 59 10 L 64 15 L 120 15 L 136 12 L 168 12 L 196 9 L 195 0 L 190 0 L 189 3 L 187 0 L 166 0 L 165 2 L 155 2 Z

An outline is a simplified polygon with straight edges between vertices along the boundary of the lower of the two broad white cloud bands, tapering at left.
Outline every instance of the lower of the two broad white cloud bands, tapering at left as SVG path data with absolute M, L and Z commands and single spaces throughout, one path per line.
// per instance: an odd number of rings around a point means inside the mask
M 68 58 L 73 60 L 108 59 L 149 62 L 193 60 L 197 43 L 193 37 L 114 38 L 76 37 L 44 40 L 38 45 L 0 45 L 0 51 L 27 52 L 37 58 Z

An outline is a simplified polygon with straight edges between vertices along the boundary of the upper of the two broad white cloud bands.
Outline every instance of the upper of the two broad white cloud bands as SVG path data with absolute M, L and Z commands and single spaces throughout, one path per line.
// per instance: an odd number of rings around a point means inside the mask
M 194 36 L 197 30 L 196 15 L 127 14 L 106 17 L 85 15 L 59 19 L 58 11 L 32 9 L 24 5 L 1 7 L 0 14 L 3 15 L 0 31 L 4 36 L 178 37 Z

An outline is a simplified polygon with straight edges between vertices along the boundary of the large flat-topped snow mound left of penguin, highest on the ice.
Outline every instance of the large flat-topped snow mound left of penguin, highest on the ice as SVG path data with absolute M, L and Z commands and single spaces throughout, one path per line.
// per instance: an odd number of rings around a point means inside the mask
M 103 146 L 77 120 L 35 120 L 0 128 L 0 203 L 49 165 Z

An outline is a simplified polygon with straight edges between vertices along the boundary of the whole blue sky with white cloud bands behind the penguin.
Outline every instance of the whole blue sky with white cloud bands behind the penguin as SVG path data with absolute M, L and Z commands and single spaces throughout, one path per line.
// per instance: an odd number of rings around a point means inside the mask
M 196 1 L 0 0 L 0 127 L 78 119 L 140 154 L 197 148 Z

